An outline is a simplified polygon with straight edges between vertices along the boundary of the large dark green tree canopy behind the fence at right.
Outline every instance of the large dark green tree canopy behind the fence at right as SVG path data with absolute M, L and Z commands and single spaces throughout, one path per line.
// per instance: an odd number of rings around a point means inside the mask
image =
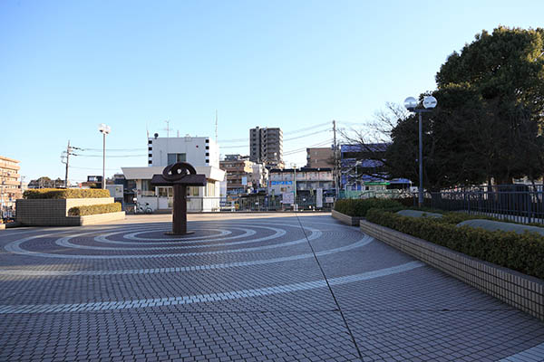
M 544 174 L 543 29 L 482 32 L 450 55 L 436 82 L 438 107 L 423 115 L 425 187 Z M 399 119 L 391 138 L 389 173 L 417 181 L 416 116 Z

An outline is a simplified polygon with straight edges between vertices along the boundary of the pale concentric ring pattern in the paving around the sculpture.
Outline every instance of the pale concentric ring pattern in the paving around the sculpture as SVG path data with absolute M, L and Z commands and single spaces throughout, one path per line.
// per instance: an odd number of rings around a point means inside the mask
M 335 225 L 333 225 L 335 226 Z M 325 257 L 338 252 L 347 252 L 371 243 L 373 238 L 363 235 L 359 240 L 333 248 L 320 247 L 317 252 L 308 248 L 307 243 L 324 243 L 326 224 L 318 227 L 301 224 L 275 224 L 258 222 L 233 223 L 191 223 L 196 230 L 190 236 L 171 237 L 164 234 L 169 224 L 143 224 L 118 226 L 107 230 L 92 228 L 83 232 L 38 233 L 15 240 L 5 245 L 7 252 L 45 259 L 64 260 L 138 260 L 151 258 L 177 258 L 180 265 L 168 268 L 141 269 L 100 269 L 100 270 L 0 270 L 0 275 L 25 276 L 89 276 L 89 275 L 126 275 L 156 274 L 205 271 L 236 268 L 250 265 L 264 265 L 279 262 L 297 262 Z M 302 247 L 300 247 L 302 245 Z M 305 252 L 293 252 L 304 250 Z M 279 251 L 279 252 L 274 252 Z M 281 251 L 284 251 L 283 253 Z M 190 257 L 204 255 L 239 254 L 241 258 L 232 262 L 209 262 L 195 265 Z M 329 284 L 345 284 L 363 281 L 396 272 L 408 271 L 421 266 L 420 262 L 409 262 L 378 271 L 367 271 L 355 275 L 334 278 Z M 113 300 L 69 304 L 32 304 L 0 306 L 0 313 L 63 312 L 81 310 L 118 310 L 164 305 L 179 305 L 238 298 L 257 297 L 292 291 L 306 291 L 325 288 L 327 281 L 298 281 L 274 285 L 266 288 L 251 288 L 238 291 L 226 291 L 213 294 L 198 294 L 152 299 Z M 137 296 L 134 296 L 137 297 Z

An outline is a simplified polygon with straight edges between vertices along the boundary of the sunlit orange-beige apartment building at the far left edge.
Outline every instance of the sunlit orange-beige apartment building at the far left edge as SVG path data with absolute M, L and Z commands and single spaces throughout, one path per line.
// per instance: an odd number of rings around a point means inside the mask
M 19 161 L 0 156 L 0 217 L 15 209 L 15 200 L 23 197 Z

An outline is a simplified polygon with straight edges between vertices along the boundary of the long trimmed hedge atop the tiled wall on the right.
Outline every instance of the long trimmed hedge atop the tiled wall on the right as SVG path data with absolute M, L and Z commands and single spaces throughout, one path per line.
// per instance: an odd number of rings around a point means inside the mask
M 485 262 L 544 279 L 544 236 L 538 233 L 491 232 L 470 226 L 456 226 L 466 216 L 447 213 L 440 219 L 415 218 L 374 208 L 368 211 L 366 220 Z

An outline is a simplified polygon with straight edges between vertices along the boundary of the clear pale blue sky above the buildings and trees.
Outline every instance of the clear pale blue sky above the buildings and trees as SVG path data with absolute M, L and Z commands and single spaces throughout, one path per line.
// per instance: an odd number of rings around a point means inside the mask
M 384 4 L 382 4 L 384 3 Z M 280 127 L 284 151 L 323 144 L 328 125 L 362 123 L 435 88 L 453 51 L 482 29 L 544 26 L 542 1 L 0 2 L 0 155 L 21 174 L 62 177 L 68 139 L 102 148 L 107 175 L 147 166 L 146 127 L 213 137 L 247 154 L 255 126 Z M 440 100 L 439 100 L 440 101 Z M 341 124 L 341 123 L 340 123 Z M 314 127 L 312 131 L 289 131 Z M 315 130 L 315 131 L 314 131 Z M 229 147 L 229 148 L 226 148 Z M 70 178 L 102 173 L 100 151 Z M 306 153 L 286 157 L 303 166 Z

